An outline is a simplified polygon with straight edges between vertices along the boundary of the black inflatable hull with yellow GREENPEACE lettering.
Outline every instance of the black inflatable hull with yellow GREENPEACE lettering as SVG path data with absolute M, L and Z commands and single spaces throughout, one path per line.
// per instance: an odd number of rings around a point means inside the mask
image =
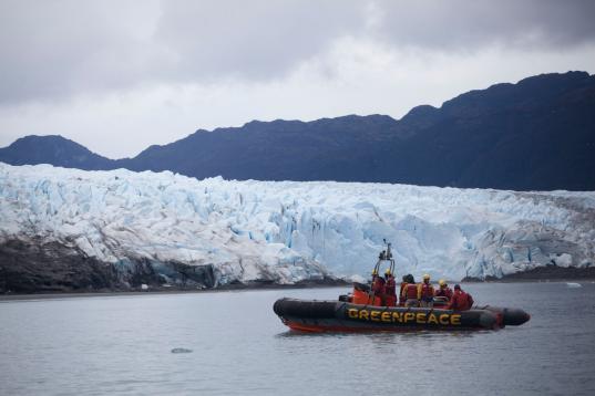
M 469 311 L 358 305 L 341 301 L 280 299 L 273 306 L 283 323 L 306 332 L 494 330 L 530 320 L 523 310 L 484 306 Z

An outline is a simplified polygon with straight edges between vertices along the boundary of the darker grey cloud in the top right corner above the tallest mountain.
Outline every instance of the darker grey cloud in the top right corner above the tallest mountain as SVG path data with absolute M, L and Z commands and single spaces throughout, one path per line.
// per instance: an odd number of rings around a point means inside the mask
M 485 45 L 561 49 L 595 40 L 589 0 L 427 0 L 375 2 L 378 38 L 394 45 L 473 51 Z

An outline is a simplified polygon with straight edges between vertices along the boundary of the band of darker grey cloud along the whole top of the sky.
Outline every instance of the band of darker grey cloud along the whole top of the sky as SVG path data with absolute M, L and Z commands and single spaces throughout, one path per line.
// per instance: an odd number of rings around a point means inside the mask
M 345 37 L 422 51 L 560 50 L 594 40 L 594 4 L 3 0 L 0 104 L 155 83 L 268 81 L 325 54 Z

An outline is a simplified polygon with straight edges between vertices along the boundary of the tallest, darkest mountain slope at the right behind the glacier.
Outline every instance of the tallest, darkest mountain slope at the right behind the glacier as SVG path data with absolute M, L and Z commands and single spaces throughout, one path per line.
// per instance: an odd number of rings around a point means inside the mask
M 401 155 L 388 168 L 406 169 L 404 183 L 595 189 L 595 77 L 586 73 L 495 85 L 438 113 L 431 126 L 393 147 Z

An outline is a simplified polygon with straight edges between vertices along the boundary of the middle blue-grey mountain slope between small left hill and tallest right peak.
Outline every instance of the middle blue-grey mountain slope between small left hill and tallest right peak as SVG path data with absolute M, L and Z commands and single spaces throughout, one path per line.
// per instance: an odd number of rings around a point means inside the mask
M 358 180 L 375 146 L 389 142 L 396 125 L 394 119 L 381 115 L 310 123 L 252 122 L 240 128 L 198 131 L 173 144 L 152 146 L 124 165 L 199 178 Z

